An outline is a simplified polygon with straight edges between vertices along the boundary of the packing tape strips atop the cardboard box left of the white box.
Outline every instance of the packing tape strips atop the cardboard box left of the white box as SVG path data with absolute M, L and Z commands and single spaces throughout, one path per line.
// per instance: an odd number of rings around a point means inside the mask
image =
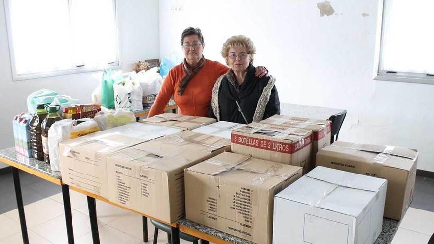
M 265 171 L 260 171 L 253 167 L 249 167 L 250 158 L 251 158 L 250 156 L 244 156 L 240 160 L 238 160 L 235 164 L 228 164 L 226 162 L 219 161 L 216 159 L 208 159 L 204 162 L 214 164 L 214 165 L 219 165 L 219 166 L 225 166 L 220 168 L 218 171 L 211 173 L 210 175 L 213 177 L 221 174 L 229 174 L 235 171 L 243 171 L 243 172 L 258 174 L 258 176 L 251 181 L 253 186 L 259 186 L 263 184 L 268 178 L 272 176 L 280 177 L 283 179 L 287 179 L 292 176 L 289 174 L 277 174 L 276 172 L 278 172 L 283 167 L 283 165 L 279 163 L 272 164 L 272 166 L 268 167 L 268 169 L 266 169 Z

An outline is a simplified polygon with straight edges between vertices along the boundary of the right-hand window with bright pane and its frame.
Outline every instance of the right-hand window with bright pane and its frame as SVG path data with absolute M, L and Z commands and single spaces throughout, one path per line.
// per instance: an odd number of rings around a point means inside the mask
M 434 84 L 433 0 L 383 4 L 377 80 Z

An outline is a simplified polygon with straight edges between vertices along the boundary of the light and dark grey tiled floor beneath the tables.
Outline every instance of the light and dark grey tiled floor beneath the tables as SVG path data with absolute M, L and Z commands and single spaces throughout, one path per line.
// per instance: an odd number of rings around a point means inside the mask
M 60 186 L 21 172 L 21 186 L 30 243 L 65 244 L 67 234 Z M 16 209 L 11 174 L 0 175 L 0 244 L 21 244 L 21 230 Z M 70 191 L 72 221 L 76 244 L 91 244 L 86 197 Z M 434 232 L 434 179 L 417 177 L 414 200 L 392 244 L 426 244 Z M 424 210 L 422 210 L 424 209 Z M 143 244 L 142 217 L 97 201 L 98 226 L 102 244 Z M 149 241 L 153 225 L 149 222 Z M 167 242 L 166 233 L 158 244 Z M 182 244 L 188 242 L 181 241 Z

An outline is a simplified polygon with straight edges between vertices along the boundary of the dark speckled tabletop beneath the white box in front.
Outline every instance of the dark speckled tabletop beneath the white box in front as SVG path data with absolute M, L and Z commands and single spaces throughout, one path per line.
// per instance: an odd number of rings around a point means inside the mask
M 226 242 L 234 244 L 254 244 L 251 241 L 247 241 L 245 239 L 226 234 L 224 232 L 187 220 L 185 218 L 178 220 L 177 223 L 190 229 L 208 234 L 210 236 L 217 237 L 218 239 L 224 240 Z M 383 218 L 383 229 L 374 244 L 389 244 L 398 229 L 398 224 L 398 220 Z

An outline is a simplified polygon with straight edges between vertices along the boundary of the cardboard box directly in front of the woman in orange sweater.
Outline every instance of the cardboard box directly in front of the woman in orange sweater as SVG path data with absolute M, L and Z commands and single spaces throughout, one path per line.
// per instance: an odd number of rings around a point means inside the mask
M 140 123 L 170 126 L 182 130 L 193 130 L 204 125 L 209 125 L 216 122 L 216 119 L 199 117 L 199 116 L 188 116 L 176 113 L 162 113 L 155 115 L 151 118 L 141 119 Z

